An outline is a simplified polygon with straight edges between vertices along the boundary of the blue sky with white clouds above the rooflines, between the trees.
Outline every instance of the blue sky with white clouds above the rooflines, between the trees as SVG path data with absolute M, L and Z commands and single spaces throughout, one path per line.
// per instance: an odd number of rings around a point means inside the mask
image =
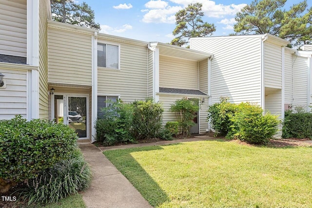
M 236 12 L 252 0 L 84 0 L 95 11 L 101 33 L 144 41 L 170 42 L 175 14 L 189 3 L 201 2 L 204 21 L 214 23 L 213 36 L 233 33 Z M 288 0 L 289 9 L 302 0 Z M 79 3 L 82 0 L 78 0 Z M 308 0 L 309 7 L 311 0 Z

